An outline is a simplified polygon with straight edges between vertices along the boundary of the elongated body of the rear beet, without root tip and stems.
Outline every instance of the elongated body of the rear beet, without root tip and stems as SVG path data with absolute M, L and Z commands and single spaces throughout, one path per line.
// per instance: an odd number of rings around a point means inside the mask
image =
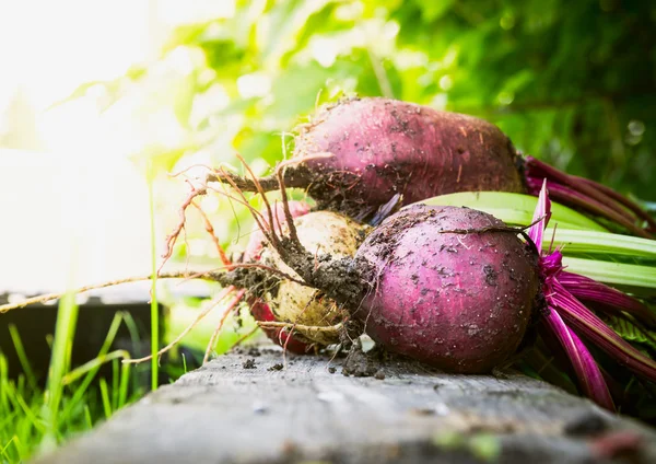
M 511 140 L 467 115 L 386 98 L 351 98 L 302 126 L 294 156 L 308 160 L 308 192 L 324 208 L 358 216 L 395 194 L 403 204 L 469 190 L 524 192 Z

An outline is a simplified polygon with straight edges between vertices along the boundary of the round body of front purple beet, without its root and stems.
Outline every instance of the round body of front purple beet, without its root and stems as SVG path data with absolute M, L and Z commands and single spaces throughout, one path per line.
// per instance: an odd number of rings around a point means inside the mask
M 355 256 L 372 282 L 356 312 L 366 333 L 448 372 L 488 372 L 506 360 L 540 277 L 535 251 L 504 228 L 481 211 L 423 205 L 384 221 Z

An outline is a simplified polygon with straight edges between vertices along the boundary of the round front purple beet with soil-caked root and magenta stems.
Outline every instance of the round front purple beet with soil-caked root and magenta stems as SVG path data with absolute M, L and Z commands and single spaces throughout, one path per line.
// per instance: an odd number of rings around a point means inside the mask
M 577 295 L 604 303 L 605 312 L 629 322 L 635 320 L 626 312 L 642 315 L 648 308 L 565 272 L 561 251 L 542 250 L 550 217 L 543 182 L 527 229 L 469 208 L 419 204 L 384 220 L 354 257 L 308 250 L 291 227 L 269 240 L 298 276 L 290 280 L 302 279 L 303 287 L 320 291 L 343 311 L 339 325 L 348 338 L 340 340 L 353 339 L 362 327 L 389 351 L 447 372 L 482 373 L 507 362 L 523 343 L 529 346 L 536 330 L 527 337 L 527 328 L 535 323 L 542 338 L 563 348 L 581 392 L 614 410 L 602 367 L 588 346 L 649 382 L 656 381 L 656 361 Z M 247 286 L 239 282 L 248 276 L 231 272 L 216 280 Z

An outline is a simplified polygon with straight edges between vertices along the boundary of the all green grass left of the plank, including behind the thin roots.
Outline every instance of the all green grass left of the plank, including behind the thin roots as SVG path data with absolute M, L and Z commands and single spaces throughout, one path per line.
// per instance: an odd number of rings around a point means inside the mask
M 177 335 L 176 328 L 184 328 L 198 310 L 194 304 L 184 306 L 190 308 L 172 313 L 173 318 L 167 324 L 171 336 Z M 218 309 L 214 318 L 197 327 L 198 332 L 189 335 L 186 345 L 202 352 L 220 313 Z M 75 299 L 70 293 L 60 302 L 45 388 L 38 386 L 19 329 L 10 327 L 24 373 L 16 380 L 9 379 L 7 359 L 0 353 L 0 463 L 25 462 L 34 454 L 51 451 L 77 434 L 91 430 L 145 393 L 147 386 L 139 385 L 133 373 L 136 369 L 147 366 L 125 364 L 121 360 L 129 358 L 129 353 L 112 350 L 122 324 L 128 327 L 132 340 L 137 341 L 139 334 L 132 317 L 127 313 L 117 313 L 97 356 L 82 366 L 71 368 L 71 340 L 74 338 L 77 318 Z M 226 324 L 215 352 L 229 350 L 255 327 L 247 311 L 243 311 L 241 323 L 234 325 L 238 325 L 238 329 L 233 327 L 233 323 Z M 187 371 L 187 361 L 184 357 L 174 356 L 161 370 L 175 379 Z M 98 371 L 106 363 L 110 363 L 113 369 L 110 381 L 98 379 Z

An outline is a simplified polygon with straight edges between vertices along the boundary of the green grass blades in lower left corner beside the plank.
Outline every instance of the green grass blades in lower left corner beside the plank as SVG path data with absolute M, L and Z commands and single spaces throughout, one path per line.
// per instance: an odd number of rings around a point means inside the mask
M 0 463 L 20 463 L 35 453 L 50 451 L 143 393 L 136 388 L 130 393 L 131 368 L 120 362 L 127 351 L 109 351 L 120 324 L 129 315 L 117 313 L 98 356 L 71 370 L 77 316 L 74 295 L 69 294 L 60 303 L 45 388 L 38 386 L 24 356 L 19 330 L 10 327 L 24 373 L 10 379 L 7 359 L 0 353 Z M 112 383 L 94 383 L 99 368 L 107 362 L 114 369 Z

